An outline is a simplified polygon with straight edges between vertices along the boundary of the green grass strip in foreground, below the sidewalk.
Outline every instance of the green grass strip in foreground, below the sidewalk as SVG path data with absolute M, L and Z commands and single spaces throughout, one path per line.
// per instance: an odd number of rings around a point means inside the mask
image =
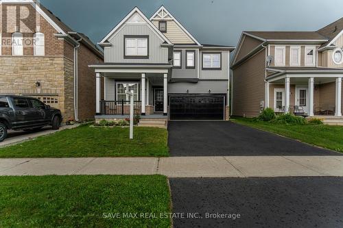
M 160 175 L 0 177 L 0 183 L 0 227 L 171 224 L 160 216 L 171 212 L 167 178 Z M 113 218 L 115 213 L 121 218 Z M 139 213 L 139 218 L 123 218 L 123 213 Z

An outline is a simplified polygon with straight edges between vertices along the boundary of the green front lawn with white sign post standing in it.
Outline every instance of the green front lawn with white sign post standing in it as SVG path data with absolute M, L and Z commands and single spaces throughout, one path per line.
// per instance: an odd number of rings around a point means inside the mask
M 56 132 L 0 149 L 0 157 L 166 157 L 167 130 L 134 127 L 90 127 Z

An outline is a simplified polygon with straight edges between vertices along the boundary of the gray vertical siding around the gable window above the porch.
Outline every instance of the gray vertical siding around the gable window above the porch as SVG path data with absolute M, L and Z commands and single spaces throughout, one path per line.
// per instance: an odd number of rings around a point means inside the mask
M 149 36 L 148 59 L 124 59 L 124 36 L 147 35 Z M 110 40 L 112 46 L 105 47 L 105 62 L 130 62 L 130 63 L 168 63 L 168 49 L 161 47 L 163 41 L 152 31 L 147 24 L 123 25 L 123 28 Z

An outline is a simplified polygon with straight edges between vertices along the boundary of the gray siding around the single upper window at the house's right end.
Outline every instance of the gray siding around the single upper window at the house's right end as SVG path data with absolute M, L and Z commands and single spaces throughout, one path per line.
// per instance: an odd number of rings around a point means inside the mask
M 200 79 L 228 79 L 229 56 L 228 51 L 213 51 L 222 52 L 222 70 L 221 71 L 202 71 L 202 53 L 200 52 Z

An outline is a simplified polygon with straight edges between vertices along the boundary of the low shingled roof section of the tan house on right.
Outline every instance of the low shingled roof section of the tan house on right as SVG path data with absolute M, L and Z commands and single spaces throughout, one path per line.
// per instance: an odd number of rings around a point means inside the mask
M 266 41 L 271 40 L 316 40 L 325 42 L 327 37 L 316 31 L 244 31 L 246 34 L 256 36 Z

